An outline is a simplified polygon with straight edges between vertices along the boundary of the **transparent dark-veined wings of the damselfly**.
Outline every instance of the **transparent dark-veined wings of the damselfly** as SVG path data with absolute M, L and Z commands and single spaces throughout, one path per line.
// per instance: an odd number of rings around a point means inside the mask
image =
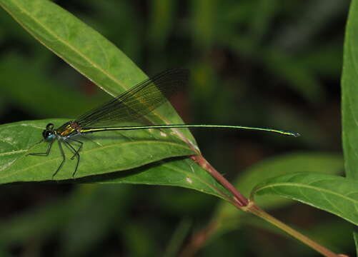
M 188 80 L 187 69 L 164 71 L 137 84 L 108 103 L 92 109 L 76 119 L 76 122 L 85 129 L 137 121 L 164 104 L 166 98 L 186 85 Z

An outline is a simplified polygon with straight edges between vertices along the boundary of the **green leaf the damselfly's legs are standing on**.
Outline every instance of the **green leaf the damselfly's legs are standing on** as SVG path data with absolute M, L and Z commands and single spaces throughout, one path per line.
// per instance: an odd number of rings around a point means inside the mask
M 61 126 L 66 120 L 21 121 L 0 126 L 0 183 L 14 181 L 44 181 L 52 178 L 61 163 L 58 143 L 54 141 L 49 156 L 27 156 L 43 153 L 49 143 L 41 142 L 46 124 Z M 173 156 L 187 156 L 194 152 L 179 138 L 168 136 L 169 131 L 144 130 L 111 131 L 77 138 L 84 142 L 76 178 L 136 168 L 146 163 Z M 68 179 L 74 171 L 76 158 L 62 143 L 66 162 L 54 179 Z

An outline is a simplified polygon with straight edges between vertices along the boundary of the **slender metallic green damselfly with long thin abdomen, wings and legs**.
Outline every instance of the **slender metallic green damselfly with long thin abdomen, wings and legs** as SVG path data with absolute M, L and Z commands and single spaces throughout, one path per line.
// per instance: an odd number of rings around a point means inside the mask
M 133 88 L 125 91 L 108 103 L 93 109 L 80 116 L 74 121 L 68 121 L 58 129 L 54 129 L 54 124 L 47 124 L 46 129 L 42 132 L 44 139 L 49 143 L 44 153 L 29 153 L 29 155 L 48 156 L 51 146 L 57 140 L 62 156 L 59 167 L 54 172 L 52 178 L 59 172 L 66 161 L 64 143 L 72 151 L 71 159 L 76 158 L 76 168 L 72 173 L 74 177 L 79 167 L 79 152 L 83 143 L 76 138 L 86 133 L 95 133 L 101 131 L 121 131 L 134 129 L 171 129 L 171 128 L 226 128 L 226 129 L 249 129 L 258 131 L 271 131 L 288 136 L 299 136 L 298 133 L 283 131 L 279 129 L 264 129 L 249 126 L 226 126 L 226 125 L 204 125 L 204 124 L 151 124 L 144 119 L 146 114 L 153 111 L 167 101 L 167 97 L 174 94 L 178 89 L 187 84 L 189 71 L 186 69 L 170 69 L 158 74 L 151 79 L 137 84 Z M 144 126 L 115 126 L 123 124 L 126 121 L 136 121 L 142 119 L 146 122 Z

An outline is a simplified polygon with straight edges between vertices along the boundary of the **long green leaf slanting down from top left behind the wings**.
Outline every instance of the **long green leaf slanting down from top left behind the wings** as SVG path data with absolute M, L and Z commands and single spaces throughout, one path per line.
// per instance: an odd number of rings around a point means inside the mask
M 111 96 L 147 79 L 114 44 L 51 1 L 0 0 L 0 6 L 41 44 Z M 182 123 L 169 103 L 148 118 L 156 124 Z M 188 130 L 182 133 L 194 142 Z

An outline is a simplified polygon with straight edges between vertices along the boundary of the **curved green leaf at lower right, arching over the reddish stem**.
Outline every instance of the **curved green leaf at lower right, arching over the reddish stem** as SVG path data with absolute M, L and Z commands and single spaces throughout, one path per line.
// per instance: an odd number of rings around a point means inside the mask
M 272 194 L 292 198 L 333 213 L 358 225 L 357 181 L 322 173 L 291 173 L 257 185 L 254 195 Z

